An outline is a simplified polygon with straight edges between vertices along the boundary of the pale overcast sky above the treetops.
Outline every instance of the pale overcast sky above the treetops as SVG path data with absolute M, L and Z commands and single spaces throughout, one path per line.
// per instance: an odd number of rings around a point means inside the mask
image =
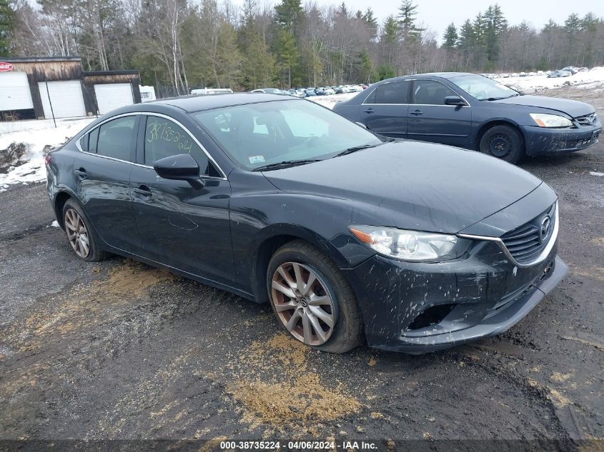
M 341 4 L 341 0 L 327 1 L 316 0 L 319 5 Z M 302 0 L 304 4 L 306 0 Z M 236 4 L 243 4 L 243 0 L 234 0 Z M 259 0 L 259 4 L 274 4 L 275 1 Z M 371 6 L 377 18 L 382 22 L 390 14 L 396 15 L 400 1 L 398 0 L 345 0 L 348 9 L 365 11 Z M 536 28 L 541 28 L 549 19 L 559 24 L 563 23 L 569 14 L 577 13 L 584 16 L 589 11 L 596 16 L 604 16 L 604 1 L 572 1 L 572 0 L 500 0 L 503 14 L 511 25 L 520 24 L 526 20 Z M 435 31 L 440 41 L 447 25 L 454 22 L 460 26 L 465 19 L 473 19 L 478 11 L 485 11 L 489 4 L 495 1 L 488 0 L 417 0 L 417 21 Z

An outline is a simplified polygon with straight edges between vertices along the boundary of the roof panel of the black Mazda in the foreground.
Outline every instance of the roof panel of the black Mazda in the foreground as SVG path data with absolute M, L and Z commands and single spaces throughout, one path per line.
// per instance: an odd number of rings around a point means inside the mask
M 282 96 L 280 94 L 266 93 L 232 93 L 232 94 L 207 94 L 205 96 L 181 96 L 160 99 L 159 101 L 147 102 L 140 105 L 169 105 L 191 113 L 192 111 L 219 109 L 224 106 L 236 106 L 245 104 L 257 104 L 267 101 L 296 101 L 295 98 Z

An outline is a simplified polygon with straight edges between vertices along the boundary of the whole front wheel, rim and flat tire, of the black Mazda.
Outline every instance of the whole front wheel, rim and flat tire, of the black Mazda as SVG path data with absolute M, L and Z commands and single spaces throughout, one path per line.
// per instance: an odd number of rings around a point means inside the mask
M 337 265 L 305 241 L 286 243 L 267 269 L 267 291 L 281 326 L 297 341 L 331 353 L 360 345 L 363 325 L 352 287 Z

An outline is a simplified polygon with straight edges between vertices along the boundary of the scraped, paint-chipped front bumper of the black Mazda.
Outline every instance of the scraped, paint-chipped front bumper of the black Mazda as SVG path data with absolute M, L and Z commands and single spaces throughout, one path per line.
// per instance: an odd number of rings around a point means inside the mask
M 343 269 L 357 295 L 370 346 L 420 354 L 508 330 L 558 285 L 568 267 L 558 244 L 538 264 L 516 266 L 495 243 L 465 258 L 409 263 L 379 255 Z

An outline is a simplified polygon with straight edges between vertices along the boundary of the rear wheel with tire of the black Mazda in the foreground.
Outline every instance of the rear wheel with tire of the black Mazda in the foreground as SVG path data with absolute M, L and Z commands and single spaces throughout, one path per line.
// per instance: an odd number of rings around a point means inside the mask
M 99 238 L 76 202 L 68 199 L 63 207 L 63 226 L 71 249 L 84 261 L 102 261 L 107 253 L 99 248 Z

